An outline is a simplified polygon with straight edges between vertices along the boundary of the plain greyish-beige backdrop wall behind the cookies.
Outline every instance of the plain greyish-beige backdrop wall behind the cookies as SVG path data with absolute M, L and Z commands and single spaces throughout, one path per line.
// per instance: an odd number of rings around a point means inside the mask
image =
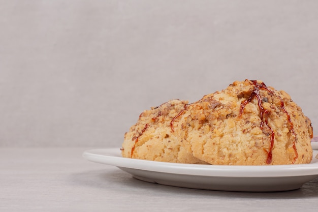
M 0 0 L 0 146 L 117 147 L 138 115 L 235 80 L 317 131 L 318 1 Z

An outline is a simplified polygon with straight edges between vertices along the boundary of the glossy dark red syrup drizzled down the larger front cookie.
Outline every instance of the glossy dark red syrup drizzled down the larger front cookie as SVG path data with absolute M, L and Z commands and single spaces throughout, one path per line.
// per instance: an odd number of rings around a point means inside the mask
M 261 95 L 260 95 L 260 89 L 263 89 L 263 90 L 267 90 L 267 92 L 269 94 L 274 94 L 274 92 L 272 92 L 272 90 L 270 90 L 264 82 L 262 83 L 258 83 L 257 80 L 250 80 L 253 85 L 254 85 L 254 89 L 252 90 L 252 93 L 250 94 L 249 98 L 245 101 L 243 101 L 241 103 L 241 106 L 240 106 L 240 111 L 239 111 L 239 115 L 241 116 L 244 112 L 244 108 L 245 106 L 250 103 L 252 101 L 252 99 L 254 97 L 257 98 L 257 101 L 258 101 L 258 105 L 259 105 L 259 109 L 260 109 L 260 118 L 261 118 L 261 125 L 260 125 L 260 128 L 261 130 L 263 130 L 264 128 L 264 124 L 269 128 L 269 130 L 271 131 L 271 136 L 270 136 L 270 146 L 269 146 L 269 150 L 266 150 L 266 153 L 267 153 L 267 159 L 266 159 L 266 163 L 267 164 L 271 164 L 272 162 L 272 150 L 273 150 L 273 147 L 274 147 L 274 139 L 275 139 L 275 132 L 273 131 L 273 129 L 268 125 L 268 115 L 269 115 L 269 111 L 267 109 L 264 109 L 263 107 L 263 104 L 262 104 L 262 98 L 261 98 Z M 279 97 L 280 98 L 280 97 Z M 293 122 L 292 122 L 292 119 L 291 119 L 291 116 L 290 114 L 288 113 L 288 111 L 285 109 L 285 106 L 284 106 L 284 102 L 283 100 L 280 98 L 280 108 L 284 111 L 284 113 L 287 115 L 287 119 L 288 119 L 288 122 L 290 124 L 290 131 L 292 132 L 292 134 L 294 135 L 295 139 L 294 139 L 294 142 L 293 142 L 293 149 L 295 151 L 295 157 L 292 161 L 292 164 L 295 163 L 296 159 L 298 158 L 298 153 L 297 153 L 297 148 L 296 148 L 296 134 L 295 134 L 295 131 L 294 131 L 294 125 L 293 125 Z

